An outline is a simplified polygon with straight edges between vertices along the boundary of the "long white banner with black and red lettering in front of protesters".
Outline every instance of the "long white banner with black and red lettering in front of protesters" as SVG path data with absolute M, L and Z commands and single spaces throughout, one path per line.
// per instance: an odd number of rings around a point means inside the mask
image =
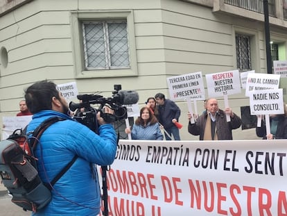
M 286 140 L 120 140 L 109 215 L 286 215 Z

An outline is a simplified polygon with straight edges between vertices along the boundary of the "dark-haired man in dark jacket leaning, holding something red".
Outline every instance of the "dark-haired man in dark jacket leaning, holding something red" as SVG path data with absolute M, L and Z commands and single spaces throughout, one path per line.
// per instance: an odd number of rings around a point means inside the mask
M 171 135 L 175 140 L 180 140 L 180 126 L 178 119 L 180 118 L 180 108 L 174 101 L 166 99 L 164 94 L 155 94 L 157 108 L 159 111 L 159 123 L 164 126 L 164 136 L 166 140 L 171 140 Z M 179 125 L 179 126 L 177 126 Z

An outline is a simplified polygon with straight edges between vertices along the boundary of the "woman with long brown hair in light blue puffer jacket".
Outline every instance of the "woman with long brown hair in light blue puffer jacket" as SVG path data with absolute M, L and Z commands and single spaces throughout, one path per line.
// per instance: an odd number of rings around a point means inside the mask
M 157 118 L 148 107 L 140 110 L 140 116 L 134 122 L 132 131 L 125 128 L 125 133 L 131 133 L 132 140 L 163 140 L 164 135 L 160 131 Z

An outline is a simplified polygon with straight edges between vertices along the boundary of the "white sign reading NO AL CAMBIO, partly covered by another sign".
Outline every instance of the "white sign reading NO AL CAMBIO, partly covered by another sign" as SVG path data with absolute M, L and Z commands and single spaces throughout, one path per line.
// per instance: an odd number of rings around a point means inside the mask
M 280 75 L 249 73 L 247 75 L 245 96 L 250 97 L 253 90 L 270 90 L 279 88 Z

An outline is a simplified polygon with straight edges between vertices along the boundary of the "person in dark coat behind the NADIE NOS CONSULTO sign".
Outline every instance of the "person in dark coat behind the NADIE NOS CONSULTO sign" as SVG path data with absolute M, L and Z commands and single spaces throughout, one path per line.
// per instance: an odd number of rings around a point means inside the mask
M 266 122 L 261 120 L 261 126 L 256 127 L 256 135 L 263 140 L 287 139 L 287 108 L 284 104 L 284 114 L 270 115 L 270 133 L 266 135 Z

